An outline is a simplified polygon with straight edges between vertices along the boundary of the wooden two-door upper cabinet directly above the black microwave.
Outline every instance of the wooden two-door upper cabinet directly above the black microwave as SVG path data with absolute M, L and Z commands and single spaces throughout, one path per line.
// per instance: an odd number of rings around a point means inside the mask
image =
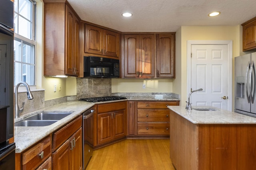
M 84 53 L 119 59 L 119 33 L 85 24 Z

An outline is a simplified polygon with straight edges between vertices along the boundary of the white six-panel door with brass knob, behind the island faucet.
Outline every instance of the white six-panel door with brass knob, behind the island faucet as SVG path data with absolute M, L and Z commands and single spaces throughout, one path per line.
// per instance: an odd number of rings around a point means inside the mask
M 192 106 L 228 110 L 228 45 L 191 45 L 191 89 L 199 88 Z

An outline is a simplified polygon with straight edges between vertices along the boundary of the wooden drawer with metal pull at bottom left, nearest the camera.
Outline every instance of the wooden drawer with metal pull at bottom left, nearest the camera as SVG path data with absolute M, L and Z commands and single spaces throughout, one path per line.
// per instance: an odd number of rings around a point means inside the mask
M 22 154 L 22 169 L 36 169 L 51 154 L 51 137 L 48 136 Z

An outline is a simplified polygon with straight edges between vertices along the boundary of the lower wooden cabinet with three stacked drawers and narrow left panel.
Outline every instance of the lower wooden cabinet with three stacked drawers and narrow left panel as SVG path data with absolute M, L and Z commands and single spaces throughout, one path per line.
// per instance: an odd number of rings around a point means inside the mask
M 169 137 L 170 110 L 179 101 L 129 101 L 127 137 Z

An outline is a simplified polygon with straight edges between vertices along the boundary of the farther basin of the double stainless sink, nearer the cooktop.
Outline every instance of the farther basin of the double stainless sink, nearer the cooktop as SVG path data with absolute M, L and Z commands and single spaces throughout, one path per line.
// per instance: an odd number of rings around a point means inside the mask
M 73 112 L 68 112 L 68 113 L 42 112 L 42 113 L 37 113 L 36 115 L 32 115 L 30 117 L 26 117 L 24 120 L 60 120 L 70 115 L 71 113 Z

